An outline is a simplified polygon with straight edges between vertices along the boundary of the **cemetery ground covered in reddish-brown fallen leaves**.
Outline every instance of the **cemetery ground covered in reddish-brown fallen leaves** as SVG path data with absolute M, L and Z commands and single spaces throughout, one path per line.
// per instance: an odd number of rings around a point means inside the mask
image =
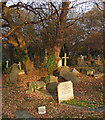
M 71 68 L 72 69 L 72 68 Z M 104 116 L 103 77 L 94 78 L 79 74 L 80 83 L 73 84 L 74 99 L 59 104 L 52 96 L 35 91 L 26 93 L 28 83 L 41 80 L 36 75 L 19 75 L 16 85 L 5 85 L 8 75 L 3 75 L 2 113 L 15 118 L 16 110 L 26 110 L 35 118 L 99 118 Z M 67 104 L 69 103 L 69 104 Z M 46 113 L 38 114 L 38 107 L 45 106 Z M 88 108 L 88 109 L 87 109 Z

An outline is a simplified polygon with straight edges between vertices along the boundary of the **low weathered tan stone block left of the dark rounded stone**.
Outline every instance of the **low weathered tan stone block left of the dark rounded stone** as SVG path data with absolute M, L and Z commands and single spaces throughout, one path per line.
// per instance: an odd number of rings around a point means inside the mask
M 46 89 L 46 84 L 43 81 L 29 83 L 29 90 L 34 92 L 36 89 Z

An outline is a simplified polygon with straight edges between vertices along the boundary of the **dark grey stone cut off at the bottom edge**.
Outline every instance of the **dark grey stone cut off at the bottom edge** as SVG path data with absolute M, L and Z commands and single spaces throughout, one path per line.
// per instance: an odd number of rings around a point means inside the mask
M 23 118 L 23 119 L 25 119 L 25 118 L 34 118 L 35 119 L 35 117 L 33 116 L 33 115 L 31 115 L 29 112 L 27 112 L 27 111 L 25 111 L 25 110 L 17 110 L 16 112 L 15 112 L 15 118 L 16 119 L 18 119 L 18 118 Z

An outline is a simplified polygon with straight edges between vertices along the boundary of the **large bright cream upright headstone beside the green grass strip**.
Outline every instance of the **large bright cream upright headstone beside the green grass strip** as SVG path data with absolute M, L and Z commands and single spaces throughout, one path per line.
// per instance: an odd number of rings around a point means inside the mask
M 59 103 L 64 100 L 74 99 L 73 84 L 71 81 L 59 83 L 57 90 Z

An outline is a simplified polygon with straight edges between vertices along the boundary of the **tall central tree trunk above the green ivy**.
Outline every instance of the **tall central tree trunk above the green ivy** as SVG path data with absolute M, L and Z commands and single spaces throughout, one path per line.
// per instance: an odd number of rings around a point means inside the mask
M 61 14 L 58 16 L 58 26 L 57 26 L 57 37 L 56 42 L 54 45 L 54 52 L 55 52 L 55 60 L 57 61 L 60 55 L 61 48 L 63 46 L 63 40 L 64 40 L 64 29 L 68 14 L 68 7 L 71 2 L 63 2 L 62 3 L 62 11 Z

